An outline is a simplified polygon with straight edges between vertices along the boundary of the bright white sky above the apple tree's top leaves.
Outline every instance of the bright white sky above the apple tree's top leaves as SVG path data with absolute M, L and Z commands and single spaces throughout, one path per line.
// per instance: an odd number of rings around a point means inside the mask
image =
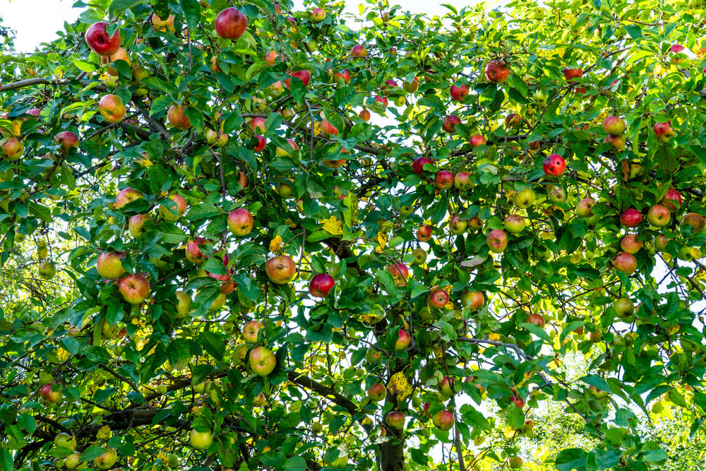
M 351 1 L 349 8 L 357 11 L 361 1 Z M 390 3 L 394 4 L 395 1 Z M 441 4 L 462 8 L 474 4 L 474 0 L 401 0 L 397 4 L 413 13 L 427 13 L 429 16 L 448 11 Z M 488 1 L 489 4 L 494 3 Z M 303 8 L 303 1 L 296 0 L 295 8 Z M 73 0 L 0 0 L 0 16 L 3 25 L 16 31 L 15 47 L 18 52 L 32 52 L 42 42 L 56 39 L 56 31 L 64 29 L 64 21 L 73 23 L 80 9 L 71 8 Z

